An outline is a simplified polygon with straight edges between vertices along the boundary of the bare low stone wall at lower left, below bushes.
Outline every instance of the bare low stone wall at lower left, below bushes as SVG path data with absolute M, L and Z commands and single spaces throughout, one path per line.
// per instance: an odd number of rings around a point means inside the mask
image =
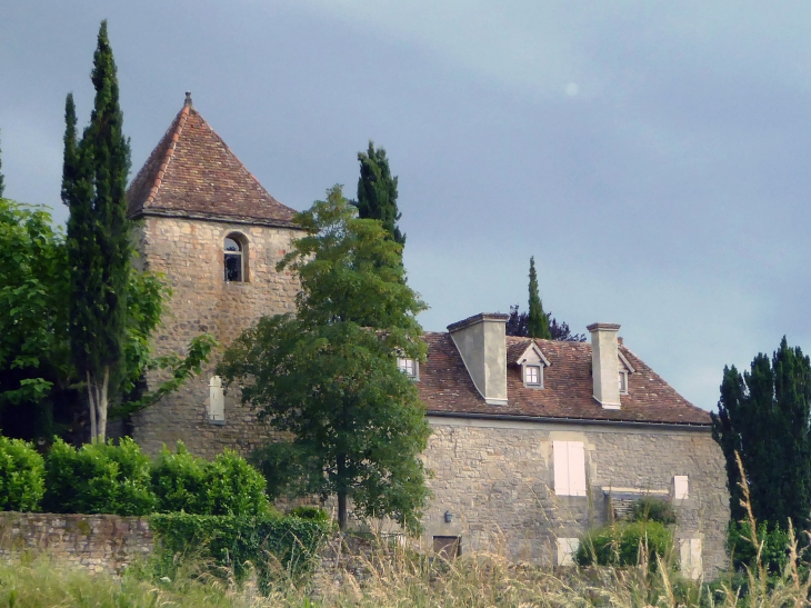
M 0 512 L 0 556 L 26 551 L 119 574 L 150 555 L 152 532 L 142 517 Z

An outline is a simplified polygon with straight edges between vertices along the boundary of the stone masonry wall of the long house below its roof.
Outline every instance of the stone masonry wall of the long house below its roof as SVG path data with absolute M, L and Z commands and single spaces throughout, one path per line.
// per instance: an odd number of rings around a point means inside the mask
M 671 430 L 429 417 L 424 452 L 435 474 L 423 519 L 433 536 L 461 536 L 465 550 L 501 549 L 513 559 L 551 562 L 557 538 L 608 522 L 603 488 L 672 492 L 689 477 L 675 538 L 701 538 L 707 576 L 725 568 L 729 520 L 723 458 L 708 429 Z M 585 446 L 588 496 L 555 496 L 552 441 Z M 445 522 L 450 511 L 452 521 Z

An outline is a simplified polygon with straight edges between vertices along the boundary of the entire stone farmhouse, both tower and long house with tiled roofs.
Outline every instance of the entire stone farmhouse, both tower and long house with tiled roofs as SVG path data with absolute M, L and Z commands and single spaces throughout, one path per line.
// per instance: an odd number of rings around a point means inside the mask
M 203 331 L 228 345 L 261 316 L 293 309 L 297 280 L 276 263 L 301 235 L 294 211 L 188 93 L 128 196 L 138 262 L 173 289 L 159 351 Z M 584 529 L 653 496 L 679 512 L 682 569 L 724 568 L 728 492 L 709 413 L 625 347 L 619 325 L 593 323 L 591 343 L 579 343 L 508 337 L 505 320 L 482 313 L 427 332 L 427 361 L 400 360 L 433 427 L 424 541 L 445 552 L 495 544 L 514 559 L 567 565 Z M 132 417 L 129 432 L 148 452 L 182 439 L 207 457 L 248 453 L 272 437 L 223 396 L 212 369 Z

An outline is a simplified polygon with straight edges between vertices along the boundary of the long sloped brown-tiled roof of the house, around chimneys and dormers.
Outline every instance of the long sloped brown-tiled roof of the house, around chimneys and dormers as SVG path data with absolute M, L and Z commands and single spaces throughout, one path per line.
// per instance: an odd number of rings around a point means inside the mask
M 708 411 L 684 399 L 624 346 L 622 355 L 637 370 L 628 378 L 629 395 L 621 409 L 603 409 L 593 398 L 591 345 L 534 340 L 550 367 L 543 370 L 542 389 L 527 388 L 519 366 L 507 369 L 507 406 L 484 402 L 473 386 L 450 333 L 428 332 L 428 360 L 420 366 L 420 397 L 428 412 L 511 415 L 528 418 L 565 418 L 677 425 L 710 425 Z M 509 353 L 522 352 L 531 340 L 507 337 Z M 508 359 L 510 361 L 510 359 Z

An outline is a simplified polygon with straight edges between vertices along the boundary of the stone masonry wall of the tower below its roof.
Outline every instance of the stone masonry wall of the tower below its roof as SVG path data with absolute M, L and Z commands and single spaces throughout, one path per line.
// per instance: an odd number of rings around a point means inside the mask
M 223 241 L 238 233 L 247 241 L 246 282 L 227 282 Z M 298 280 L 277 272 L 276 265 L 301 232 L 283 228 L 223 223 L 182 218 L 147 217 L 139 222 L 136 240 L 142 268 L 161 272 L 173 296 L 164 315 L 156 348 L 159 355 L 182 352 L 202 332 L 213 335 L 227 347 L 260 317 L 294 311 Z M 209 379 L 221 351 L 203 373 L 181 390 L 138 412 L 131 433 L 148 453 L 181 439 L 192 453 L 213 458 L 223 448 L 248 455 L 270 436 L 250 409 L 233 396 L 226 398 L 226 422 L 209 422 Z M 150 389 L 158 375 L 148 378 Z

